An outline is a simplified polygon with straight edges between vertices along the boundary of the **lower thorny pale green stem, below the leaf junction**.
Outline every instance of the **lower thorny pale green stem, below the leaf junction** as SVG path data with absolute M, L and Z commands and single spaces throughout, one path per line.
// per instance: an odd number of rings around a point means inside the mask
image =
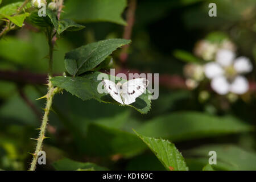
M 36 163 L 38 162 L 38 153 L 42 150 L 42 145 L 43 145 L 43 140 L 46 139 L 45 137 L 45 133 L 46 133 L 46 128 L 47 128 L 47 123 L 48 123 L 48 114 L 49 111 L 51 109 L 52 106 L 52 99 L 53 96 L 59 92 L 59 88 L 54 88 L 50 79 L 51 76 L 49 76 L 49 82 L 48 82 L 48 93 L 47 93 L 47 102 L 46 102 L 46 108 L 44 109 L 44 116 L 43 116 L 43 121 L 42 121 L 42 125 L 40 127 L 40 133 L 39 133 L 39 138 L 36 139 L 38 140 L 38 143 L 36 144 L 36 150 L 35 153 L 33 154 L 33 159 L 32 159 L 32 163 L 30 166 L 30 171 L 34 171 L 36 168 Z

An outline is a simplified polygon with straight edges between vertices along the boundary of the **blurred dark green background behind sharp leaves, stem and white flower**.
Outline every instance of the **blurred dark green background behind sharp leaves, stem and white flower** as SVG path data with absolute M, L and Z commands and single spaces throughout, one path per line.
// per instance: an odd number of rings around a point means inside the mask
M 0 7 L 11 2 L 3 0 Z M 183 67 L 174 52 L 193 53 L 198 40 L 212 32 L 225 34 L 237 46 L 238 55 L 249 57 L 255 68 L 255 0 L 138 0 L 129 47 L 121 64 L 113 53 L 112 68 L 159 73 L 179 77 L 160 81 L 159 98 L 151 110 L 139 114 L 130 107 L 82 101 L 64 92 L 55 96 L 43 150 L 47 165 L 38 170 L 76 169 L 84 162 L 116 170 L 162 170 L 164 167 L 134 134 L 174 142 L 189 169 L 201 170 L 208 152 L 217 152 L 215 169 L 255 170 L 255 89 L 234 103 L 214 92 L 200 101 L 200 88 L 188 90 Z M 217 17 L 209 17 L 209 3 L 217 5 Z M 61 16 L 86 26 L 78 32 L 64 32 L 56 42 L 54 72 L 65 72 L 64 55 L 82 45 L 109 38 L 122 38 L 126 24 L 125 0 L 67 0 Z M 0 22 L 0 27 L 4 22 Z M 46 36 L 30 26 L 9 32 L 0 40 L 0 169 L 27 170 L 40 127 L 46 86 L 16 81 L 12 74 L 44 76 L 48 72 Z M 18 75 L 15 75 L 18 77 Z M 255 69 L 247 78 L 255 82 Z M 28 78 L 30 79 L 30 78 Z M 42 79 L 41 79 L 42 80 Z M 170 81 L 170 82 L 169 82 Z M 177 84 L 177 85 L 175 85 Z M 170 86 L 171 85 L 171 86 Z M 63 159 L 68 158 L 68 159 Z M 63 159 L 63 160 L 60 160 Z M 69 160 L 76 160 L 75 163 Z

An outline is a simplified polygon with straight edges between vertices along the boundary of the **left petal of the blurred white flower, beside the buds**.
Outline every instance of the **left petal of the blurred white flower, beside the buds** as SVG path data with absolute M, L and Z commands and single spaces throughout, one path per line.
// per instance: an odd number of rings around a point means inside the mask
M 223 75 L 224 70 L 219 64 L 212 62 L 204 65 L 204 73 L 206 77 L 211 79 Z

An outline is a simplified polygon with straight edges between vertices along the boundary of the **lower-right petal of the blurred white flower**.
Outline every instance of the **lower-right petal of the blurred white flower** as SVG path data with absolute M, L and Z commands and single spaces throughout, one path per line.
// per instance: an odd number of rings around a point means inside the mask
M 243 94 L 249 89 L 249 83 L 243 76 L 237 76 L 234 81 L 230 84 L 230 92 L 236 94 Z

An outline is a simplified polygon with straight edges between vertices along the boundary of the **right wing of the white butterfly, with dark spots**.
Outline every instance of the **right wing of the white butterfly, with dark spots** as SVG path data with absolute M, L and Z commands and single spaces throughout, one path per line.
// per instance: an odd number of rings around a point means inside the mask
M 146 90 L 148 80 L 146 78 L 135 78 L 122 85 L 121 97 L 124 104 L 131 104 Z

